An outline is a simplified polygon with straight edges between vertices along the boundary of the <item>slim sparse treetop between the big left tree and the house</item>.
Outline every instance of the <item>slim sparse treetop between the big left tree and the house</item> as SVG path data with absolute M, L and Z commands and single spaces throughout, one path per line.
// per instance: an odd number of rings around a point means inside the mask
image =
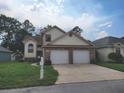
M 33 34 L 33 32 L 35 31 L 35 27 L 33 26 L 33 24 L 29 21 L 29 20 L 25 20 L 22 23 L 22 28 L 27 31 L 28 33 L 30 33 L 31 35 Z

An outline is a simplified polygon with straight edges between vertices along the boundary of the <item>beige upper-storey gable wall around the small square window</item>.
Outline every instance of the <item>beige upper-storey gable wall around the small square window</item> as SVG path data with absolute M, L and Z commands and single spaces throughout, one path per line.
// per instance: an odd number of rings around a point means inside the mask
M 62 36 L 64 33 L 59 31 L 57 28 L 53 28 L 50 31 L 47 31 L 45 34 L 50 34 L 51 35 L 51 41 L 55 40 L 56 38 Z M 49 42 L 45 41 L 45 35 L 43 35 L 43 44 L 46 45 Z

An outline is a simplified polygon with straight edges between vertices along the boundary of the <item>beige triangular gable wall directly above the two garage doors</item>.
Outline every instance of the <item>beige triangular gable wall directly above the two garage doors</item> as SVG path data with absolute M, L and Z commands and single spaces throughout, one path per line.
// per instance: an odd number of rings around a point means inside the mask
M 75 35 L 69 36 L 67 34 L 65 37 L 54 42 L 53 45 L 89 45 L 89 44 L 86 43 L 85 41 L 79 39 Z

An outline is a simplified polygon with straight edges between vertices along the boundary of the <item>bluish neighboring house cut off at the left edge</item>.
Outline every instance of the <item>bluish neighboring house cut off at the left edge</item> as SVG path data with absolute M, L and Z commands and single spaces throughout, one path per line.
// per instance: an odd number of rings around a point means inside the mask
M 0 62 L 11 61 L 11 52 L 7 48 L 0 46 Z

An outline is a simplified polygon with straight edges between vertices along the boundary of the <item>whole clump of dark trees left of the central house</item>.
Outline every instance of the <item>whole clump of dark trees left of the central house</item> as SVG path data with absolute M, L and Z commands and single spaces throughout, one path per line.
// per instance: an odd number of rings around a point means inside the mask
M 31 35 L 33 31 L 34 26 L 29 20 L 25 20 L 24 23 L 21 23 L 14 18 L 0 15 L 1 45 L 15 53 L 24 52 L 22 40 L 26 35 Z

